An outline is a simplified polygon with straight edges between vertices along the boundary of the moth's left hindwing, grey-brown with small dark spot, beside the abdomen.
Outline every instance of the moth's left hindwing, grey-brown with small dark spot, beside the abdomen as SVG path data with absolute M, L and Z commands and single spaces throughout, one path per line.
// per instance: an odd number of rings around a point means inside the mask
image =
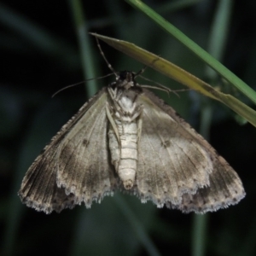
M 75 195 L 77 203 L 84 201 L 86 207 L 94 200 L 101 201 L 115 186 L 113 166 L 108 159 L 107 101 L 108 93 L 98 96 L 58 148 L 58 187 Z

